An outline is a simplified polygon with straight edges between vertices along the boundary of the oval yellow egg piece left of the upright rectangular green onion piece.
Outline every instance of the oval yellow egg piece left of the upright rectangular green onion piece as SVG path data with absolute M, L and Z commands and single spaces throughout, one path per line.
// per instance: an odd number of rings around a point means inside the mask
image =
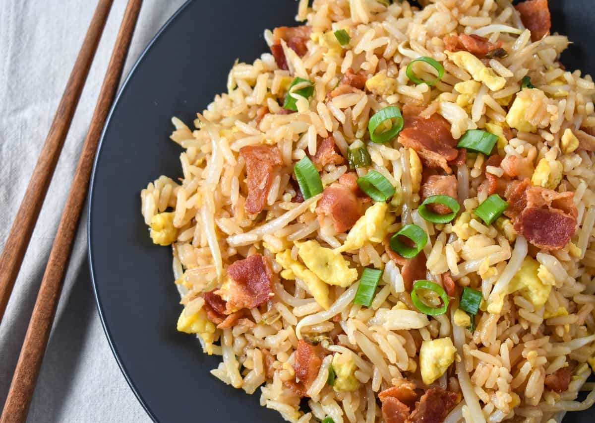
M 358 270 L 350 269 L 349 263 L 342 254 L 335 253 L 330 248 L 321 247 L 314 240 L 296 242 L 296 245 L 299 247 L 297 255 L 306 267 L 327 284 L 345 288 L 358 278 Z

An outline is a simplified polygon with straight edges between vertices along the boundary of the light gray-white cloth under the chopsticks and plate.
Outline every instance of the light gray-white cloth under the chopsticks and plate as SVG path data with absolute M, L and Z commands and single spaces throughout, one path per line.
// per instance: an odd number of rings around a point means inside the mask
M 183 2 L 143 2 L 124 75 Z M 96 0 L 0 0 L 0 249 L 4 247 L 95 6 Z M 125 7 L 126 0 L 114 0 L 0 325 L 0 407 L 8 393 Z M 87 261 L 86 210 L 27 421 L 151 421 L 124 380 L 99 321 Z

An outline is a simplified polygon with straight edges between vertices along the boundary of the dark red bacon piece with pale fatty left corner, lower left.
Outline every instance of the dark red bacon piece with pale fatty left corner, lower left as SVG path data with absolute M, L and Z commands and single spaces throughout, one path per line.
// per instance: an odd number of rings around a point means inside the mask
M 230 276 L 228 287 L 215 291 L 215 294 L 227 299 L 226 314 L 240 309 L 253 309 L 273 296 L 273 270 L 268 260 L 260 254 L 231 263 L 227 274 Z

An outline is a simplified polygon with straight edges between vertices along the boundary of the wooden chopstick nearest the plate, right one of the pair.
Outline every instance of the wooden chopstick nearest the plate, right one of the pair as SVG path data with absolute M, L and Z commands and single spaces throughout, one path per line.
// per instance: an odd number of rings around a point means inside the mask
M 27 418 L 29 403 L 33 396 L 37 374 L 39 374 L 60 298 L 74 235 L 76 235 L 80 214 L 89 189 L 89 179 L 99 138 L 114 101 L 141 5 L 142 0 L 129 0 L 126 7 L 89 132 L 84 140 L 79 164 L 74 173 L 60 226 L 58 226 L 54 245 L 49 255 L 48 265 L 39 287 L 29 328 L 27 328 L 23 347 L 18 357 L 17 368 L 12 376 L 0 423 L 23 423 Z

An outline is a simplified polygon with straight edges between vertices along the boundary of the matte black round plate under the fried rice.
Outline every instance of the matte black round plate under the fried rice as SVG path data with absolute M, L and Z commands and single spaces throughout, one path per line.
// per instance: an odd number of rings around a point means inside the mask
M 595 58 L 581 54 L 595 39 L 590 1 L 550 3 L 555 29 L 577 42 L 565 63 L 593 72 Z M 215 380 L 209 370 L 220 357 L 176 332 L 171 251 L 151 244 L 139 192 L 159 175 L 181 176 L 181 150 L 168 141 L 171 116 L 192 122 L 225 91 L 234 60 L 259 57 L 263 30 L 295 24 L 296 11 L 293 0 L 189 1 L 140 57 L 104 131 L 89 201 L 93 287 L 118 364 L 155 421 L 281 421 L 259 406 L 259 391 L 248 396 Z M 565 420 L 589 421 L 587 413 Z

